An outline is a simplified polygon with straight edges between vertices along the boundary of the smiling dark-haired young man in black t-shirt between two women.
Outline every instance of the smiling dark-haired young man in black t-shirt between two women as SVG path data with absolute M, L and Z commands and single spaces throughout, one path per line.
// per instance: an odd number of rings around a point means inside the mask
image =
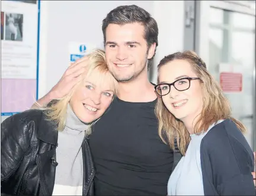
M 136 5 L 113 9 L 103 20 L 108 67 L 119 81 L 119 95 L 92 127 L 96 195 L 167 195 L 173 152 L 158 136 L 156 94 L 148 66 L 158 46 L 158 25 Z M 40 105 L 63 97 L 79 81 L 74 64 Z

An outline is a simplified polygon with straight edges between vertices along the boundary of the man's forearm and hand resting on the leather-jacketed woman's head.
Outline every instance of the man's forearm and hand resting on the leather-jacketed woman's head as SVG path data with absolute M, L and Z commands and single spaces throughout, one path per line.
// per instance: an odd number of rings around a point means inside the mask
M 85 72 L 88 58 L 78 59 L 75 63 L 69 66 L 60 78 L 59 82 L 46 94 L 31 106 L 31 109 L 37 109 L 46 106 L 53 99 L 60 99 L 67 95 L 76 83 L 81 81 L 82 73 Z M 83 63 L 81 63 L 83 62 Z

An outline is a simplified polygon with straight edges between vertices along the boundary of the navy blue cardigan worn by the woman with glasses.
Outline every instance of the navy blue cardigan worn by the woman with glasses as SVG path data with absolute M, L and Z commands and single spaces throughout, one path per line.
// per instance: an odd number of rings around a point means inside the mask
M 200 146 L 204 195 L 255 195 L 254 155 L 231 120 L 204 136 Z

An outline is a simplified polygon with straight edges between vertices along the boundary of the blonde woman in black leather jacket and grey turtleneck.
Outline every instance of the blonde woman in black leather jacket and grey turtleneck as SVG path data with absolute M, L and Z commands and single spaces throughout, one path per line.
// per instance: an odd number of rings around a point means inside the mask
M 1 192 L 10 195 L 93 195 L 94 164 L 88 125 L 107 110 L 117 91 L 105 53 L 95 50 L 82 80 L 41 110 L 12 115 L 1 124 Z

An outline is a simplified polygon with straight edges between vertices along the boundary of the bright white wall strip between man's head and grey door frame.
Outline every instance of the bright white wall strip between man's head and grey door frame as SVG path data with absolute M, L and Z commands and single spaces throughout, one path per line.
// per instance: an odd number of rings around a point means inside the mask
M 153 17 L 158 23 L 158 48 L 153 63 L 152 82 L 156 83 L 156 66 L 168 54 L 184 49 L 184 1 L 155 1 Z

